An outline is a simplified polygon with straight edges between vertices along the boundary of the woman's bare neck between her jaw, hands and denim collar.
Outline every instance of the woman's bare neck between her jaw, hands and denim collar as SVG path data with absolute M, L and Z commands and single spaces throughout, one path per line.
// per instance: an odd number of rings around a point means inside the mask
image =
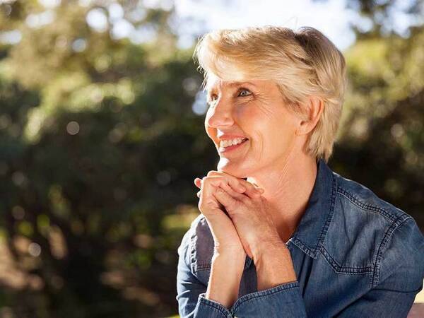
M 304 153 L 293 156 L 282 166 L 258 171 L 247 181 L 264 189 L 271 204 L 273 221 L 284 242 L 290 238 L 305 213 L 317 177 L 317 161 Z

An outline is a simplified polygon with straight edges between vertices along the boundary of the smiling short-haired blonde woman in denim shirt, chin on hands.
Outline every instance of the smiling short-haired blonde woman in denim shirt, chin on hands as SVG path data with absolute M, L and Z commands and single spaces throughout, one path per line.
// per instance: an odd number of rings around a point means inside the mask
M 326 165 L 346 86 L 318 30 L 204 35 L 216 171 L 178 249 L 181 317 L 406 317 L 423 288 L 415 220 Z

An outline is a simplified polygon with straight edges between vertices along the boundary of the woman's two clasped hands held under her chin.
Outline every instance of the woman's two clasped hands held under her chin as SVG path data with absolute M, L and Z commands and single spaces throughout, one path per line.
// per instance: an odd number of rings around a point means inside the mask
M 199 187 L 199 210 L 204 214 L 215 241 L 215 252 L 244 252 L 251 259 L 261 250 L 283 246 L 271 213 L 273 207 L 263 189 L 225 172 L 210 171 L 194 179 Z

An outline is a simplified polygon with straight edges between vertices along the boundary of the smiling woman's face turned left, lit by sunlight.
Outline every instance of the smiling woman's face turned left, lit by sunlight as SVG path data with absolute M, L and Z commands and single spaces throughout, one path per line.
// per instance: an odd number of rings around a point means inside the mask
M 262 168 L 283 168 L 300 119 L 289 112 L 273 81 L 210 79 L 205 129 L 220 156 L 217 170 L 250 177 Z M 220 141 L 247 138 L 237 146 Z M 240 140 L 240 139 L 239 139 Z

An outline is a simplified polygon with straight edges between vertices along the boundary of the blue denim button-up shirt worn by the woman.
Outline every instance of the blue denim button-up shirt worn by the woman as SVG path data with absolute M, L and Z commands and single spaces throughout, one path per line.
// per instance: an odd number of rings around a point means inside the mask
M 407 317 L 423 288 L 424 237 L 416 221 L 324 160 L 290 240 L 297 280 L 257 290 L 246 257 L 237 301 L 205 298 L 213 237 L 200 214 L 178 248 L 177 302 L 183 317 Z

